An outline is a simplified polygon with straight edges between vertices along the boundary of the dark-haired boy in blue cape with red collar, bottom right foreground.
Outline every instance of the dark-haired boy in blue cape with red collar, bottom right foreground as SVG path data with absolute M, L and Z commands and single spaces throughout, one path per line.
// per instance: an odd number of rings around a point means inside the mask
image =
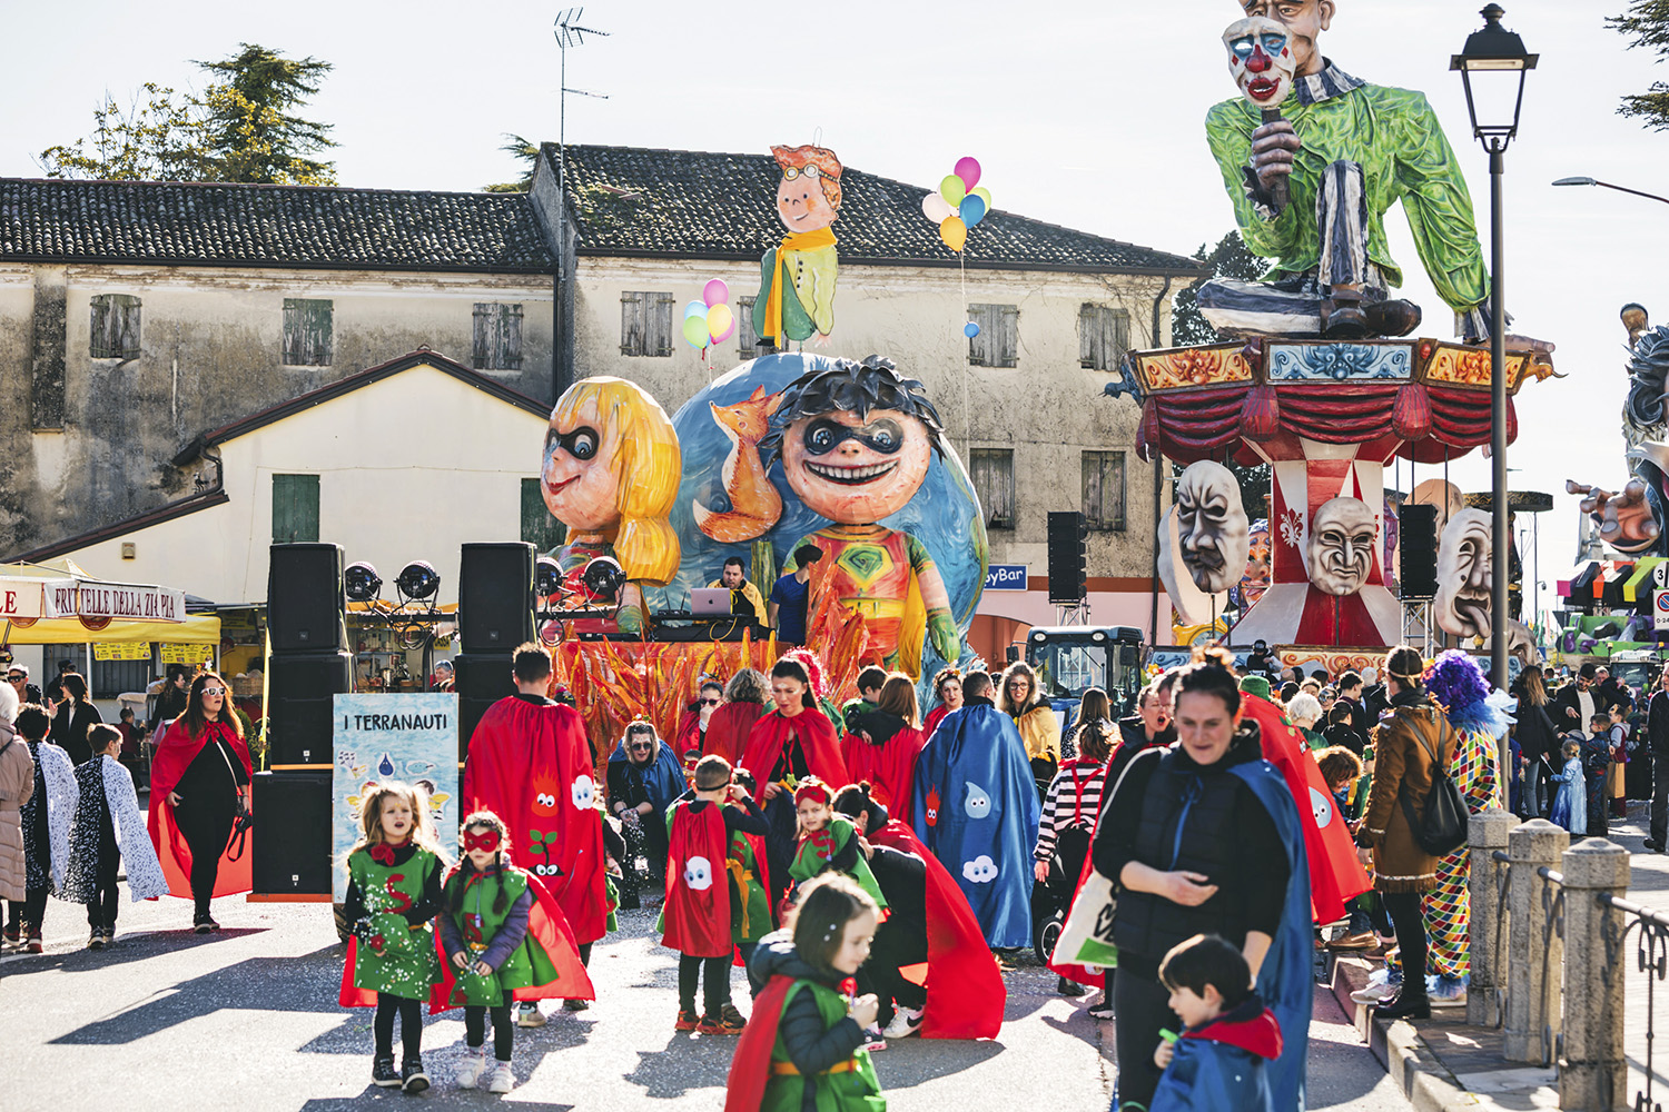
M 1165 1075 L 1152 1112 L 1272 1112 L 1263 1064 L 1280 1057 L 1280 1024 L 1252 989 L 1240 950 L 1197 934 L 1172 947 L 1158 975 L 1185 1029 L 1153 1052 Z

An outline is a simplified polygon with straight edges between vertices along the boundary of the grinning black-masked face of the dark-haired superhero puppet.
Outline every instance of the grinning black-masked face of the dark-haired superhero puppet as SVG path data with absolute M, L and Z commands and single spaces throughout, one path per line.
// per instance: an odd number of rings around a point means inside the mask
M 905 508 L 931 457 L 928 427 L 898 410 L 801 417 L 783 435 L 788 485 L 808 510 L 843 525 L 868 525 Z

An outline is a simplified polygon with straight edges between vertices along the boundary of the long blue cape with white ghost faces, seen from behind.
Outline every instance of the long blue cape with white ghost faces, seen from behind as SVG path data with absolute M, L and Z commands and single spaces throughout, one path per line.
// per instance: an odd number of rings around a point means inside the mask
M 961 885 L 993 947 L 1031 945 L 1031 847 L 1038 802 L 1013 719 L 991 705 L 951 712 L 916 760 L 915 829 Z

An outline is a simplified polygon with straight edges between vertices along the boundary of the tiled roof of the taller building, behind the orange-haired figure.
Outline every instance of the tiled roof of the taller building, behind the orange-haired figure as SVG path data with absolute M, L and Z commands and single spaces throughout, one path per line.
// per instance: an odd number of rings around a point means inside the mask
M 556 168 L 557 147 L 544 157 Z M 541 168 L 544 170 L 544 167 Z M 769 153 L 643 147 L 567 148 L 567 193 L 581 255 L 758 258 L 783 237 L 781 172 Z M 846 167 L 834 235 L 841 262 L 956 265 L 921 198 L 928 188 Z M 968 237 L 966 265 L 1073 272 L 1200 272 L 1193 258 L 993 210 Z

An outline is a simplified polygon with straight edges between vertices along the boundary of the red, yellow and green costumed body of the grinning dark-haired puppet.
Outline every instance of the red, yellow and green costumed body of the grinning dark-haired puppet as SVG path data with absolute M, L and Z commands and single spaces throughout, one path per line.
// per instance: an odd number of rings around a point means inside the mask
M 816 615 L 821 599 L 833 592 L 840 602 L 865 617 L 870 634 L 863 652 L 866 664 L 885 664 L 910 675 L 921 674 L 921 639 L 928 627 L 960 642 L 956 620 L 950 610 L 928 612 L 921 600 L 921 575 L 933 570 L 928 547 L 910 533 L 886 525 L 828 525 L 803 537 L 794 548 L 814 545 L 823 550 L 826 572 L 813 577 L 808 615 Z M 793 559 L 783 572 L 793 572 Z

